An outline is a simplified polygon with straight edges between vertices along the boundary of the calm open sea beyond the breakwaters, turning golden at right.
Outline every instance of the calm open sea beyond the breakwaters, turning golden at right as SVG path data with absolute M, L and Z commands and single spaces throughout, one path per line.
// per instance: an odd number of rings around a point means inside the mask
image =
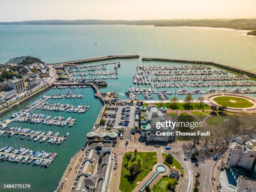
M 215 61 L 256 71 L 256 38 L 245 33 L 125 25 L 0 26 L 0 62 L 23 55 L 54 63 L 95 56 L 140 54 Z

